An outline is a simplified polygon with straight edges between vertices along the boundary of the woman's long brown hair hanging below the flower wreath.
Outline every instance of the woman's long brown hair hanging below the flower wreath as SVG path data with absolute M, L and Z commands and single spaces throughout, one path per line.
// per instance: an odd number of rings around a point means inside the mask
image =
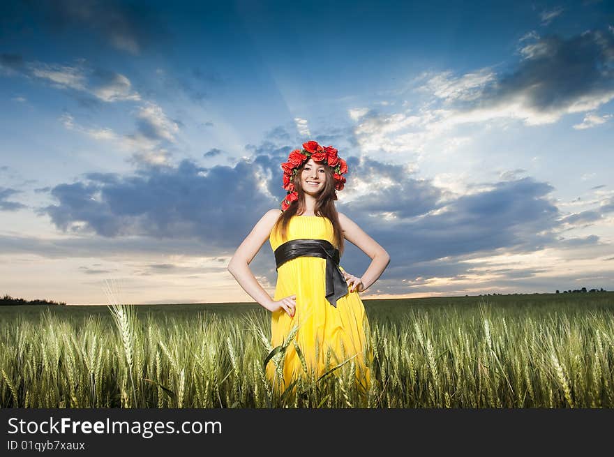
M 287 225 L 290 223 L 290 218 L 292 218 L 292 216 L 296 216 L 299 212 L 302 213 L 305 211 L 305 192 L 301 182 L 301 176 L 303 174 L 305 164 L 306 163 L 299 167 L 297 174 L 294 176 L 294 190 L 297 191 L 299 199 L 290 203 L 290 207 L 279 215 L 279 218 L 273 227 L 273 230 L 278 230 L 278 233 L 281 235 L 281 239 L 285 239 L 287 236 Z M 337 194 L 335 192 L 333 169 L 326 165 L 324 166 L 324 172 L 327 175 L 327 179 L 324 183 L 324 187 L 322 190 L 320 190 L 320 193 L 315 195 L 315 208 L 313 212 L 315 213 L 315 216 L 324 216 L 331 221 L 334 232 L 334 245 L 336 245 L 335 247 L 339 250 L 339 255 L 343 255 L 343 229 L 339 223 L 339 216 L 334 204 L 334 200 L 337 200 Z

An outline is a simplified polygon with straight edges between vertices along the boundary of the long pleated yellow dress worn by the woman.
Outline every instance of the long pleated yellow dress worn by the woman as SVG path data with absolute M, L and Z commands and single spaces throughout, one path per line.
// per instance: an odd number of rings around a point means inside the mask
M 286 239 L 281 239 L 277 230 L 272 230 L 269 236 L 273 251 L 292 239 L 325 239 L 337 247 L 333 225 L 323 216 L 293 216 L 287 226 Z M 340 266 L 340 269 L 343 271 L 343 267 Z M 358 292 L 354 291 L 338 299 L 335 308 L 326 299 L 325 291 L 326 259 L 297 257 L 278 269 L 274 300 L 297 295 L 293 317 L 283 309 L 271 313 L 273 347 L 282 345 L 293 329 L 295 333 L 283 354 L 283 380 L 280 380 L 280 370 L 276 370 L 274 361 L 267 364 L 267 377 L 280 391 L 285 390 L 298 376 L 320 377 L 347 359 L 351 360 L 345 365 L 352 361 L 355 364 L 355 382 L 359 391 L 364 393 L 368 389 L 373 352 L 366 339 L 369 324 L 364 304 Z M 299 346 L 306 367 L 294 343 Z M 337 372 L 334 371 L 335 374 Z

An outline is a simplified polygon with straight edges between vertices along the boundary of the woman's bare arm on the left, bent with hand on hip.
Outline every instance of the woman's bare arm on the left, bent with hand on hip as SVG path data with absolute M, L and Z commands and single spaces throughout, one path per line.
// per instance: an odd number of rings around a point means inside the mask
M 271 230 L 275 225 L 280 211 L 271 209 L 260 218 L 250 234 L 244 239 L 237 251 L 228 262 L 228 271 L 237 280 L 237 283 L 252 297 L 258 304 L 268 310 L 273 310 L 274 301 L 250 270 L 249 264 L 256 256 L 262 245 L 269 239 Z

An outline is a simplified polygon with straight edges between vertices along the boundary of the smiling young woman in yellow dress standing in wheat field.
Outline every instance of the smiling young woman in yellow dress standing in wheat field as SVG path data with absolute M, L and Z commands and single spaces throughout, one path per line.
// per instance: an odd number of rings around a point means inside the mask
M 366 391 L 373 352 L 367 343 L 368 320 L 359 292 L 375 283 L 390 256 L 336 210 L 336 190 L 343 189 L 347 164 L 334 147 L 306 142 L 281 167 L 287 190 L 281 210 L 271 209 L 262 216 L 228 264 L 241 287 L 271 311 L 273 347 L 292 338 L 283 359 L 267 364 L 267 377 L 283 391 L 300 375 L 319 377 L 351 359 L 357 384 Z M 372 259 L 361 277 L 339 265 L 344 238 Z M 267 239 L 278 271 L 272 299 L 248 267 Z

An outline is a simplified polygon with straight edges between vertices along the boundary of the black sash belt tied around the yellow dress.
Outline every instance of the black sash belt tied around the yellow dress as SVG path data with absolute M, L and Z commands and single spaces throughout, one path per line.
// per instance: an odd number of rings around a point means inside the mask
M 326 298 L 336 308 L 337 300 L 347 294 L 347 283 L 339 268 L 339 250 L 325 239 L 292 239 L 275 250 L 277 269 L 297 257 L 326 259 Z

